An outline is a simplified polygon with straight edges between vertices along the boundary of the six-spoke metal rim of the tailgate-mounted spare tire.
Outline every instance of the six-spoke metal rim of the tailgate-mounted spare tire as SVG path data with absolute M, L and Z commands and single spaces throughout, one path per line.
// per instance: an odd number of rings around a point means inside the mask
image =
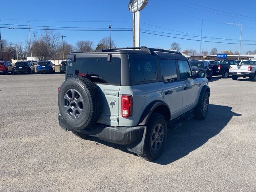
M 64 109 L 68 116 L 72 119 L 77 119 L 83 114 L 84 101 L 80 94 L 75 89 L 69 89 L 64 95 Z

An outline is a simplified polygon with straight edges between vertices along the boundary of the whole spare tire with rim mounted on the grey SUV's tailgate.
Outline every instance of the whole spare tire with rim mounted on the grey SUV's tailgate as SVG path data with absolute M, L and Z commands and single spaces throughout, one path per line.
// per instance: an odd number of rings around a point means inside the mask
M 58 106 L 70 130 L 89 128 L 100 114 L 96 85 L 87 78 L 68 78 L 60 87 Z

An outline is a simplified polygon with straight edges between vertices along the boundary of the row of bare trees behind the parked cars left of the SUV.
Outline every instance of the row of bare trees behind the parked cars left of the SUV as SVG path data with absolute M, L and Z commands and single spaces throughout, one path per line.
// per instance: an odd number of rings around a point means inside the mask
M 44 33 L 38 34 L 36 31 L 32 34 L 31 48 L 32 56 L 37 57 L 39 60 L 62 60 L 62 39 L 59 37 L 59 33 L 52 30 L 45 30 Z M 75 46 L 68 44 L 68 42 L 63 42 L 64 59 L 68 57 L 68 54 L 73 51 L 77 52 L 94 52 L 99 51 L 102 48 L 110 47 L 110 38 L 102 38 L 96 46 L 90 40 L 80 40 L 76 42 Z M 111 40 L 111 47 L 116 47 L 114 40 Z M 28 39 L 24 42 L 19 42 L 14 44 L 12 42 L 7 42 L 2 40 L 3 52 L 9 52 L 13 59 L 17 59 L 16 52 L 18 52 L 19 60 L 26 60 L 27 56 L 30 54 L 30 43 Z M 0 48 L 1 49 L 1 48 Z

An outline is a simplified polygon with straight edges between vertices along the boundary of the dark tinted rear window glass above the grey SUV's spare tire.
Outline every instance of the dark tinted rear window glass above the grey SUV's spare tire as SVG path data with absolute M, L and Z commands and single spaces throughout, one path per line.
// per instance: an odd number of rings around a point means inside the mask
M 111 58 L 111 62 L 107 58 L 76 58 L 72 62 L 72 58 L 68 58 L 68 70 L 66 78 L 86 76 L 94 83 L 101 84 L 121 84 L 121 59 Z

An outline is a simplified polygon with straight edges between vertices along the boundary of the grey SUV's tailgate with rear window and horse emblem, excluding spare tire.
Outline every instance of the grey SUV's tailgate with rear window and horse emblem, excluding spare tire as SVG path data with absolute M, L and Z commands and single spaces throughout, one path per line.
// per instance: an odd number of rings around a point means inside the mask
M 96 84 L 100 95 L 100 117 L 98 123 L 119 126 L 119 90 L 121 84 L 121 59 L 112 54 L 76 55 L 75 62 L 68 58 L 66 78 L 84 77 Z

